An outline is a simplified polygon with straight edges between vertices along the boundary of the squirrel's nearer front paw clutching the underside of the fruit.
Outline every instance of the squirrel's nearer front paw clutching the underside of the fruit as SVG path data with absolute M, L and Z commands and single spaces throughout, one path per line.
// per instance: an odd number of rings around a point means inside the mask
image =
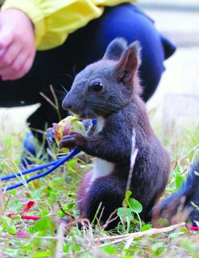
M 60 140 L 60 148 L 73 149 L 75 147 L 80 147 L 84 145 L 86 137 L 77 132 L 70 132 L 65 135 Z

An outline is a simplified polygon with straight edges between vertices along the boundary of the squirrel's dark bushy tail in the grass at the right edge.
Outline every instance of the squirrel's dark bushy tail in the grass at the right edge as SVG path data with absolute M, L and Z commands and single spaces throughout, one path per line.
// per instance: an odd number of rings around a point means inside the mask
M 199 221 L 199 210 L 193 203 L 199 206 L 199 162 L 192 165 L 188 177 L 178 192 L 171 194 L 159 205 L 152 209 L 152 221 L 158 218 L 166 218 L 171 224 L 179 223 L 189 218 L 193 225 Z

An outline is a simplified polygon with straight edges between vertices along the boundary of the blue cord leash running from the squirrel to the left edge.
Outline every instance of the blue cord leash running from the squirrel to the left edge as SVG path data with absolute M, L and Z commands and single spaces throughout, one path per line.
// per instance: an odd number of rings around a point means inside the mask
M 93 123 L 93 125 L 96 125 L 97 121 L 96 120 L 92 120 L 92 123 Z M 15 178 L 17 176 L 21 176 L 21 175 L 28 174 L 28 173 L 31 173 L 31 172 L 36 172 L 36 171 L 39 171 L 39 170 L 42 170 L 42 169 L 45 169 L 45 168 L 53 166 L 52 168 L 50 168 L 49 170 L 47 170 L 45 172 L 33 175 L 30 178 L 26 179 L 25 183 L 29 183 L 32 180 L 35 180 L 35 179 L 40 178 L 40 177 L 43 177 L 43 176 L 53 172 L 58 167 L 60 167 L 62 164 L 64 164 L 66 161 L 68 161 L 69 159 L 73 158 L 74 156 L 76 156 L 80 152 L 81 152 L 80 149 L 75 148 L 69 154 L 67 154 L 65 157 L 63 157 L 61 159 L 58 159 L 56 161 L 52 161 L 52 162 L 46 163 L 46 164 L 38 166 L 36 168 L 32 168 L 32 169 L 25 170 L 25 171 L 22 171 L 22 172 L 18 172 L 18 173 L 15 173 L 15 174 L 10 174 L 10 175 L 2 176 L 0 178 L 0 180 L 1 181 L 5 181 L 5 180 L 11 179 L 11 178 Z M 10 185 L 10 186 L 6 187 L 5 190 L 6 191 L 7 190 L 12 190 L 12 189 L 17 188 L 17 187 L 22 186 L 22 185 L 24 185 L 24 182 L 19 182 L 19 183 L 16 183 L 16 184 L 13 184 L 13 185 Z M 4 188 L 2 188 L 2 191 L 4 191 Z

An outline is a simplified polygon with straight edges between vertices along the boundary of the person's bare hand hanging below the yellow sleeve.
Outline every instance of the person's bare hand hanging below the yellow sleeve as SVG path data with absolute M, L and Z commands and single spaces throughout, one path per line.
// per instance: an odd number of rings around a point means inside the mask
M 2 80 L 23 77 L 35 57 L 34 28 L 18 9 L 0 11 L 0 76 Z

